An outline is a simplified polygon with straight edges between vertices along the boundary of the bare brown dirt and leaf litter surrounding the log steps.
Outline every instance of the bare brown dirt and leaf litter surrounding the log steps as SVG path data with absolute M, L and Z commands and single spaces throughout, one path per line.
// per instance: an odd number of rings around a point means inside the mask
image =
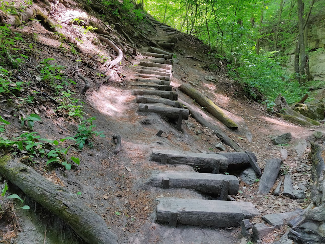
M 63 8 L 63 7 L 62 7 Z M 58 11 L 58 18 L 64 17 L 63 10 Z M 65 26 L 63 25 L 63 29 Z M 67 29 L 68 30 L 68 29 Z M 30 74 L 35 80 L 35 67 L 46 58 L 55 58 L 57 64 L 65 67 L 64 73 L 71 76 L 75 71 L 76 56 L 69 51 L 69 47 L 58 40 L 50 31 L 39 22 L 32 21 L 20 28 L 13 28 L 14 32 L 21 33 L 24 42 L 17 45 L 34 43 L 34 50 L 22 73 Z M 68 34 L 67 34 L 68 35 Z M 92 39 L 94 34 L 89 32 L 86 37 Z M 35 38 L 37 36 L 37 38 Z M 259 194 L 258 182 L 247 185 L 240 181 L 240 192 L 233 196 L 238 201 L 251 201 L 261 215 L 254 218 L 254 223 L 261 222 L 261 216 L 275 212 L 292 211 L 296 208 L 308 206 L 310 187 L 313 183 L 310 178 L 311 163 L 308 157 L 309 141 L 313 140 L 314 131 L 325 132 L 324 122 L 318 127 L 302 127 L 274 116 L 266 111 L 259 103 L 249 101 L 242 88 L 227 78 L 225 65 L 206 53 L 208 49 L 196 38 L 179 34 L 180 40 L 176 44 L 175 64 L 172 68 L 172 85 L 178 91 L 179 97 L 190 104 L 191 98 L 183 94 L 178 87 L 182 82 L 195 86 L 203 94 L 223 108 L 238 125 L 238 130 L 227 129 L 218 120 L 210 116 L 210 120 L 218 125 L 230 138 L 236 141 L 243 149 L 253 152 L 257 156 L 257 163 L 264 168 L 266 160 L 274 157 L 281 158 L 280 149 L 287 150 L 287 158 L 283 164 L 277 182 L 285 174 L 291 174 L 293 185 L 299 183 L 307 187 L 306 199 L 295 200 L 285 196 Z M 84 38 L 84 37 L 83 37 Z M 150 39 L 165 39 L 166 34 L 160 29 L 149 36 Z M 88 42 L 89 45 L 93 45 Z M 105 53 L 103 45 L 96 46 Z M 196 57 L 199 60 L 188 58 Z M 103 69 L 103 62 L 96 52 L 80 54 L 83 61 L 82 70 L 86 77 L 92 80 L 91 88 L 85 96 L 80 94 L 83 82 L 78 81 L 70 89 L 75 98 L 83 102 L 84 117 L 96 117 L 94 124 L 96 131 L 103 131 L 106 138 L 93 139 L 93 148 L 87 146 L 83 150 L 71 147 L 69 154 L 80 158 L 80 166 L 65 170 L 63 167 L 45 167 L 44 161 L 36 159 L 34 163 L 27 162 L 46 177 L 48 180 L 67 187 L 71 192 L 81 192 L 80 199 L 95 210 L 106 221 L 111 231 L 118 236 L 118 243 L 240 243 L 241 230 L 238 228 L 205 228 L 198 226 L 170 227 L 160 225 L 154 220 L 155 207 L 158 198 L 162 196 L 189 197 L 211 199 L 193 190 L 159 189 L 147 184 L 152 172 L 157 170 L 193 170 L 187 166 L 161 165 L 150 161 L 153 149 L 170 149 L 191 152 L 220 152 L 215 145 L 220 142 L 214 133 L 202 127 L 192 117 L 183 120 L 182 131 L 176 125 L 156 114 L 137 112 L 138 104 L 134 102 L 132 90 L 136 88 L 132 83 L 135 78 L 137 64 L 142 57 L 139 53 L 129 59 L 132 63 L 123 60 L 121 65 L 111 71 L 112 78 L 97 88 L 102 81 L 99 74 Z M 215 62 L 215 63 L 214 63 Z M 211 70 L 211 67 L 217 67 Z M 26 76 L 26 75 L 25 75 Z M 14 109 L 19 100 L 8 101 L 0 95 L 0 115 L 10 121 L 5 136 L 20 135 L 26 128 L 21 128 Z M 198 110 L 202 108 L 195 105 Z M 34 132 L 42 138 L 58 140 L 73 137 L 77 131 L 78 120 L 67 114 L 55 111 L 55 104 L 46 99 L 39 99 L 35 103 L 24 104 L 20 109 L 25 113 L 37 113 L 42 117 L 40 123 L 35 123 Z M 206 111 L 205 111 L 206 112 Z M 207 112 L 206 112 L 207 113 Z M 17 116 L 16 116 L 16 115 Z M 155 134 L 162 130 L 166 132 L 162 137 Z M 271 138 L 275 135 L 292 134 L 288 145 L 275 146 Z M 112 135 L 122 137 L 122 150 L 117 154 L 112 151 L 115 147 Z M 224 145 L 226 152 L 233 149 Z M 14 155 L 22 162 L 24 155 Z M 274 186 L 276 186 L 275 183 Z M 11 192 L 21 193 L 14 186 Z M 272 191 L 271 191 L 272 192 Z M 6 222 L 0 220 L 1 233 L 4 243 L 83 243 L 76 234 L 53 216 L 50 212 L 26 197 L 30 205 L 29 211 L 16 210 L 17 220 Z M 7 220 L 13 217 L 9 214 Z M 19 226 L 17 225 L 19 223 Z M 22 231 L 20 231 L 20 229 Z M 272 243 L 277 237 L 286 232 L 286 228 L 276 229 L 263 239 L 263 243 Z M 16 242 L 10 242 L 11 239 Z M 244 242 L 246 243 L 246 242 Z

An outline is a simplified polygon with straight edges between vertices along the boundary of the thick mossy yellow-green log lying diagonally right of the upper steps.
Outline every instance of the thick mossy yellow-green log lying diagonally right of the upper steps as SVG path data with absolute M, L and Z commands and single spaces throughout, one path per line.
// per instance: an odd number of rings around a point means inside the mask
M 224 125 L 228 128 L 236 129 L 238 126 L 236 123 L 230 119 L 223 110 L 213 103 L 209 98 L 205 95 L 201 94 L 199 91 L 194 89 L 192 86 L 183 83 L 180 86 L 180 89 L 189 95 L 191 98 L 195 99 L 201 106 L 204 106 L 207 111 L 209 111 L 213 116 L 215 116 L 218 120 L 220 120 Z

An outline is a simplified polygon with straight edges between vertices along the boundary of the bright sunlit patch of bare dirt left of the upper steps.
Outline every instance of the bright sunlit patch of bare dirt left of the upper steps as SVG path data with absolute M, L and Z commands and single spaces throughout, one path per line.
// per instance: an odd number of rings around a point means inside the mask
M 87 98 L 98 111 L 111 117 L 126 117 L 126 111 L 130 109 L 131 94 L 113 87 L 102 86 Z

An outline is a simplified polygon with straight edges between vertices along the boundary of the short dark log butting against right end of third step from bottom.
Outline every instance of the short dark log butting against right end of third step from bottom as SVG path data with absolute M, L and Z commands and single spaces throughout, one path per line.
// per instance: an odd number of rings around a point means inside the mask
M 228 171 L 234 171 L 234 170 L 240 170 L 247 168 L 250 163 L 250 159 L 248 155 L 243 152 L 236 152 L 236 153 L 217 153 L 220 154 L 228 159 Z M 255 162 L 257 161 L 256 155 L 252 152 L 249 152 L 249 154 L 253 157 Z

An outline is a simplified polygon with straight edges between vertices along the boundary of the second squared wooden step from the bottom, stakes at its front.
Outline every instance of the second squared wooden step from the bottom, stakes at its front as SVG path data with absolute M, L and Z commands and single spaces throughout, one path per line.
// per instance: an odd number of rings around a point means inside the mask
M 239 180 L 234 175 L 198 172 L 165 171 L 153 173 L 151 185 L 161 188 L 194 189 L 204 194 L 215 196 L 220 196 L 221 193 L 224 193 L 225 200 L 227 200 L 228 195 L 236 195 L 239 190 Z M 225 185 L 227 186 L 225 187 Z

